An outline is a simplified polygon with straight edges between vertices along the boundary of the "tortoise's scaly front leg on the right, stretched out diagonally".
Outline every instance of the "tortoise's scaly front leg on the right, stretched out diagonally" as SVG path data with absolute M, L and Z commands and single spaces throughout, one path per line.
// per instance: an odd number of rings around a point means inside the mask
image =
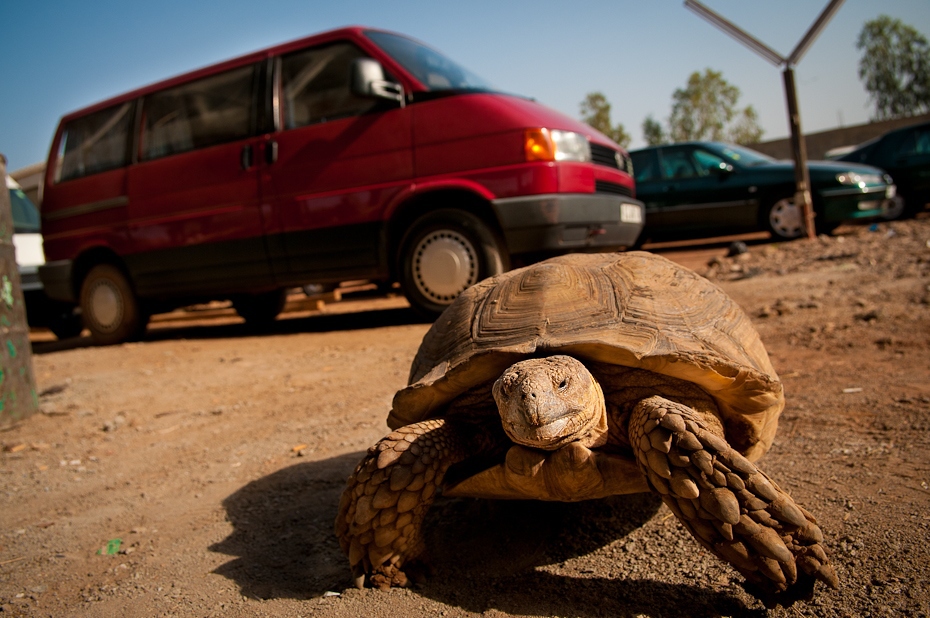
M 701 414 L 650 397 L 634 408 L 629 436 L 650 486 L 685 528 L 764 596 L 790 604 L 815 578 L 837 587 L 814 517 Z

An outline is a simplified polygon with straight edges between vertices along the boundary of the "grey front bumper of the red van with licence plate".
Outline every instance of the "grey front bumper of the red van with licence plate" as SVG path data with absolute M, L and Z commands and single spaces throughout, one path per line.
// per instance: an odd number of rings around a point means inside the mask
M 492 202 L 511 254 L 631 247 L 642 202 L 622 195 L 555 193 Z

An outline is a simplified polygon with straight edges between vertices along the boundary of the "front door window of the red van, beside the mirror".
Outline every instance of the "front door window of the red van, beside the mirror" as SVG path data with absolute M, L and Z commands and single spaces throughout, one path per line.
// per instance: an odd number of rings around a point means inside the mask
M 281 58 L 284 127 L 294 129 L 359 116 L 377 101 L 357 97 L 349 89 L 352 61 L 366 54 L 349 43 L 306 49 Z

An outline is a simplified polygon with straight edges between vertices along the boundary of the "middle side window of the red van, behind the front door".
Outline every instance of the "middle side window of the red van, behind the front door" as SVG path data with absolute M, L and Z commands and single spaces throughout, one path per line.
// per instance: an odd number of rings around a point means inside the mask
M 145 97 L 143 160 L 249 137 L 255 66 L 240 67 Z

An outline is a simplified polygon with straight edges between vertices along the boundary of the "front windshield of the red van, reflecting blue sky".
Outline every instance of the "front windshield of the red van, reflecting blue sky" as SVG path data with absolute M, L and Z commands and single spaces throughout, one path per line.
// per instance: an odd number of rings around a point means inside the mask
M 430 91 L 495 90 L 490 83 L 468 69 L 412 39 L 373 30 L 365 35 Z

